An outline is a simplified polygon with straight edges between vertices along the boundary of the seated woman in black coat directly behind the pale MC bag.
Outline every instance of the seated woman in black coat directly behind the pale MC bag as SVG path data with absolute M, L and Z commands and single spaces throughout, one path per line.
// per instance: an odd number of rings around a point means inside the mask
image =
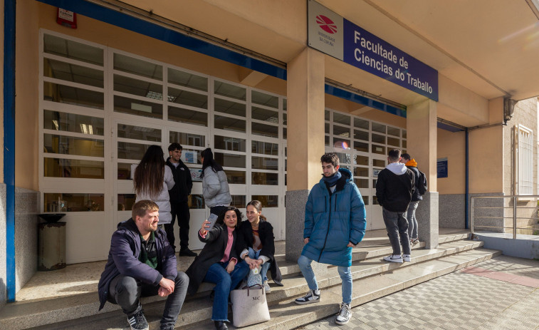
M 262 215 L 262 203 L 251 200 L 247 204 L 247 220 L 238 228 L 238 242 L 236 252 L 241 259 L 249 265 L 250 269 L 261 266 L 261 277 L 266 292 L 270 292 L 266 273 L 271 269 L 271 278 L 279 286 L 281 284 L 281 271 L 275 261 L 275 237 L 271 223 Z

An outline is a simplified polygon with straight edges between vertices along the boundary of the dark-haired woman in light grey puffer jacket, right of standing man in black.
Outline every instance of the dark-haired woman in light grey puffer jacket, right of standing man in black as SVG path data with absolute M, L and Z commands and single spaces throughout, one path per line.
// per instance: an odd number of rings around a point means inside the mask
M 214 153 L 210 148 L 204 149 L 200 154 L 202 160 L 202 195 L 209 207 L 209 212 L 219 216 L 232 202 L 229 182 L 223 167 L 214 160 Z

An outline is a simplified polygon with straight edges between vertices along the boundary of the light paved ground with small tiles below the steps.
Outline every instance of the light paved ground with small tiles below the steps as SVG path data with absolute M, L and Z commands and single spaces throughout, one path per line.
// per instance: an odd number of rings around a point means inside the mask
M 345 326 L 332 316 L 298 329 L 538 330 L 539 261 L 496 257 L 357 306 L 352 313 Z

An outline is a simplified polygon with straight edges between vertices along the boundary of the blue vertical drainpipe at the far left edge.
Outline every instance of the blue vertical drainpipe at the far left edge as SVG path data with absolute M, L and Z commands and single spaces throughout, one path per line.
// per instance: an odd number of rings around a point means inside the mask
M 4 0 L 4 183 L 8 302 L 15 301 L 15 14 L 16 0 Z

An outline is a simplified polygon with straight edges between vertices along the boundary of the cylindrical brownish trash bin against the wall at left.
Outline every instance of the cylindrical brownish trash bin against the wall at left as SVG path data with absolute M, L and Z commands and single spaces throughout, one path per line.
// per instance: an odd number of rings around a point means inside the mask
M 41 217 L 41 215 L 40 215 Z M 38 270 L 66 267 L 66 222 L 39 224 Z

